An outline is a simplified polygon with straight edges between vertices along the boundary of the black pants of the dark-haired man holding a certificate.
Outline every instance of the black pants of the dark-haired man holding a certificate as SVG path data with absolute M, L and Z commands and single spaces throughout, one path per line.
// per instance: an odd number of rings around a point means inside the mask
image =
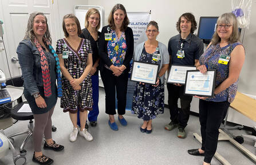
M 171 121 L 179 124 L 179 127 L 185 128 L 190 118 L 190 103 L 192 96 L 184 95 L 184 86 L 175 86 L 167 84 L 168 105 L 171 115 Z M 178 99 L 180 98 L 180 107 L 178 108 Z

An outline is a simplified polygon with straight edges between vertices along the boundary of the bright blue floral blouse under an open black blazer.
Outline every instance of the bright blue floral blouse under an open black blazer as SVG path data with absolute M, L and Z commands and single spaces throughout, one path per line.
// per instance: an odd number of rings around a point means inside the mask
M 123 65 L 125 53 L 127 51 L 127 45 L 125 41 L 124 31 L 121 33 L 120 38 L 117 37 L 116 32 L 111 30 L 112 40 L 108 41 L 108 57 L 114 66 Z

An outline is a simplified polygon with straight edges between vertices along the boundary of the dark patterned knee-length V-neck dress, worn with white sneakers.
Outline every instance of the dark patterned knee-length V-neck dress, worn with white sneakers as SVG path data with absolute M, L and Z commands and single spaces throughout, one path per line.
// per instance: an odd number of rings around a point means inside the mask
M 77 50 L 70 46 L 69 42 L 64 39 L 58 39 L 56 53 L 62 54 L 68 52 L 68 57 L 64 58 L 64 66 L 68 70 L 73 79 L 80 78 L 87 66 L 88 54 L 92 53 L 90 41 L 81 39 Z M 80 111 L 92 110 L 92 80 L 88 74 L 82 81 L 81 90 L 74 90 L 68 79 L 62 74 L 62 90 L 61 108 L 64 112 L 76 113 L 78 108 Z

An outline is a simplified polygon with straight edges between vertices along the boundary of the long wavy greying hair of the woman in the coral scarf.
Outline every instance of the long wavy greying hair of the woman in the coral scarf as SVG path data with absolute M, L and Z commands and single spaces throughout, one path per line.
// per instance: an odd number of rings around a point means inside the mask
M 34 34 L 33 26 L 34 26 L 34 19 L 37 15 L 42 15 L 45 17 L 44 13 L 41 13 L 41 12 L 31 13 L 29 15 L 29 21 L 27 21 L 27 29 L 24 37 L 24 39 L 30 39 L 32 42 L 34 42 L 34 38 L 36 38 L 36 35 Z M 50 31 L 49 31 L 46 17 L 45 17 L 45 21 L 46 21 L 46 32 L 44 34 L 44 38 L 47 39 L 50 43 L 52 43 L 52 38 L 50 37 Z

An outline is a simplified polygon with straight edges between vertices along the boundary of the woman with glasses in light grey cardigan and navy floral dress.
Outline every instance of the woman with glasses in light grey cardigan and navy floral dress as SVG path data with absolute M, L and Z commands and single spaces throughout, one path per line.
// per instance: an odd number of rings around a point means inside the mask
M 132 100 L 132 114 L 143 119 L 141 132 L 152 132 L 152 119 L 164 112 L 164 73 L 169 66 L 167 47 L 156 40 L 159 28 L 155 21 L 148 23 L 145 31 L 148 39 L 135 50 L 134 60 L 159 65 L 156 84 L 137 82 Z

